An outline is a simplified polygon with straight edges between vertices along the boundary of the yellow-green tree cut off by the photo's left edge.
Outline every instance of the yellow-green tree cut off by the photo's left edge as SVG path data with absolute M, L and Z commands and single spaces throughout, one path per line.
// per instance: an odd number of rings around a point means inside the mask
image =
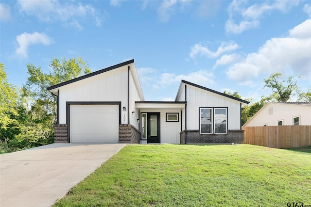
M 18 93 L 16 88 L 8 83 L 5 67 L 0 63 L 0 129 L 6 129 L 13 122 L 12 116 L 18 115 L 17 106 Z

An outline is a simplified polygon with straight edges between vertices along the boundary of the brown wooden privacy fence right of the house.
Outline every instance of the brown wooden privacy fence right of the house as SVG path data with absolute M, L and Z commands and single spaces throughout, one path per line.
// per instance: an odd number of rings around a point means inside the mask
M 242 127 L 244 143 L 273 148 L 311 145 L 311 126 Z

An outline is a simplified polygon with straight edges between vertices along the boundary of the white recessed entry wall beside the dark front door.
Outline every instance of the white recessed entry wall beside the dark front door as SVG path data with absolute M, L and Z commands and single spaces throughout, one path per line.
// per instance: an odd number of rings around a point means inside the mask
M 160 112 L 160 143 L 180 143 L 180 109 L 141 109 L 140 113 Z M 166 122 L 166 113 L 178 113 L 179 122 Z M 140 129 L 141 131 L 141 129 Z

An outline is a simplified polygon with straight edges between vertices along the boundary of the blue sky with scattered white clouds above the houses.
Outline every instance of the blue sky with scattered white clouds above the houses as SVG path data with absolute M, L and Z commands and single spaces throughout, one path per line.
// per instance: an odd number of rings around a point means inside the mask
M 10 83 L 26 83 L 28 63 L 48 72 L 53 57 L 78 56 L 92 72 L 134 59 L 145 100 L 173 100 L 187 80 L 258 101 L 275 72 L 306 91 L 311 1 L 1 0 Z

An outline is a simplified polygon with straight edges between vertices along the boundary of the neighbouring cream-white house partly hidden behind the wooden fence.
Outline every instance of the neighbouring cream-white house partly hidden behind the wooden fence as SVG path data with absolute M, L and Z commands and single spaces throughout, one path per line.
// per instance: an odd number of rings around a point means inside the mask
M 268 102 L 243 127 L 311 125 L 311 102 Z

